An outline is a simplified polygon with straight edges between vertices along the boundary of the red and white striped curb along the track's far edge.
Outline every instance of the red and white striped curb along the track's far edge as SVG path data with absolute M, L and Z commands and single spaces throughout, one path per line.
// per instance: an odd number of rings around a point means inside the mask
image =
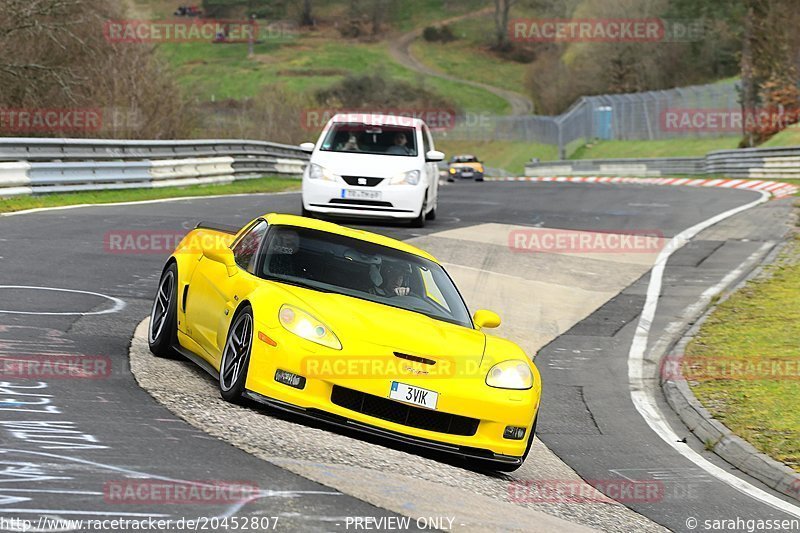
M 568 183 L 638 183 L 646 185 L 685 185 L 687 187 L 722 187 L 764 191 L 774 198 L 792 196 L 800 187 L 791 183 L 764 180 L 733 180 L 723 178 L 632 178 L 628 176 L 510 176 L 486 178 L 486 181 L 557 181 Z

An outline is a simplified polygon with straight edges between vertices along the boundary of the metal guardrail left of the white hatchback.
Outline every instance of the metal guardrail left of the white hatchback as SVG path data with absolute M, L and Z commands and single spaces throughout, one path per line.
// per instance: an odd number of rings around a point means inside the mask
M 0 138 L 0 197 L 299 176 L 297 146 L 247 140 Z

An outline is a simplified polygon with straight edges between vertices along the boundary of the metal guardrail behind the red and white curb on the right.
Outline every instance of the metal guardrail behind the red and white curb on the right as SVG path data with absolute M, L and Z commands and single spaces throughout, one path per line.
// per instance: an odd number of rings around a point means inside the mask
M 526 176 L 674 176 L 800 179 L 800 146 L 719 150 L 705 157 L 576 159 L 528 163 Z

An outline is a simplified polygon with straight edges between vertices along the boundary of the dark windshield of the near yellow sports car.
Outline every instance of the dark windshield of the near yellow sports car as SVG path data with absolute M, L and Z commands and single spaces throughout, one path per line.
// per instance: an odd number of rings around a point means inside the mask
M 273 226 L 264 279 L 335 292 L 471 328 L 464 300 L 437 263 L 414 254 L 294 226 Z

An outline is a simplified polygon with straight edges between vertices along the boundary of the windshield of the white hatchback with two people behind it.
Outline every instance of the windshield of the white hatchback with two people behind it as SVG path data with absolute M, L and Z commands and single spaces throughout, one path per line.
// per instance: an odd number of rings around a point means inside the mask
M 328 130 L 320 150 L 416 157 L 417 142 L 414 128 L 339 122 Z

